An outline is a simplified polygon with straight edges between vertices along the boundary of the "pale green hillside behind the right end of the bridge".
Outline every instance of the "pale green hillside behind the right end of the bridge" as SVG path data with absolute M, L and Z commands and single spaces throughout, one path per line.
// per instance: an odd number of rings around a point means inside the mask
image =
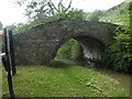
M 129 21 L 129 16 L 127 16 L 129 13 L 129 4 L 130 2 L 122 2 L 121 4 L 116 6 L 109 10 L 95 10 L 88 15 L 87 20 L 125 25 L 125 22 Z

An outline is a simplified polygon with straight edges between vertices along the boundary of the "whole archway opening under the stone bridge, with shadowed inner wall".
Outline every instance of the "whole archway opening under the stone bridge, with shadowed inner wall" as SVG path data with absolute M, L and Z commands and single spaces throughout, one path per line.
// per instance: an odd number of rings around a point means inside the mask
M 106 45 L 94 37 L 77 35 L 62 40 L 56 47 L 54 59 L 101 61 Z

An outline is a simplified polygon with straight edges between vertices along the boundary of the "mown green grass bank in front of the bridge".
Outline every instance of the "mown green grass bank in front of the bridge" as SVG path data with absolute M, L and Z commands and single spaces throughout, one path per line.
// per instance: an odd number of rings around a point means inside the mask
M 127 97 L 118 81 L 80 66 L 18 66 L 13 77 L 16 97 Z M 8 96 L 2 73 L 2 96 Z

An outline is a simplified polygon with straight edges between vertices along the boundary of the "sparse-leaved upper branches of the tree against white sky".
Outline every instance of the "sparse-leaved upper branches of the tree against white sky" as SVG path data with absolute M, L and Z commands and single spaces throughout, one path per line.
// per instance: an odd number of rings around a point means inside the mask
M 23 6 L 25 1 L 18 0 L 16 3 Z M 25 15 L 28 15 L 30 19 L 37 19 L 40 15 L 53 16 L 56 13 L 66 13 L 72 8 L 72 1 L 73 0 L 69 1 L 68 7 L 65 7 L 63 4 L 63 0 L 59 0 L 57 6 L 55 6 L 52 0 L 32 0 L 26 6 Z

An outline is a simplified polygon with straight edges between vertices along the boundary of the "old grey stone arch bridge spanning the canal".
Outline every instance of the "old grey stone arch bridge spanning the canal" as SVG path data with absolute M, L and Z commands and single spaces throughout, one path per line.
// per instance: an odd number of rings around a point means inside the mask
M 59 19 L 14 35 L 15 62 L 21 65 L 48 65 L 66 41 L 80 42 L 87 58 L 101 59 L 117 25 L 103 22 Z

